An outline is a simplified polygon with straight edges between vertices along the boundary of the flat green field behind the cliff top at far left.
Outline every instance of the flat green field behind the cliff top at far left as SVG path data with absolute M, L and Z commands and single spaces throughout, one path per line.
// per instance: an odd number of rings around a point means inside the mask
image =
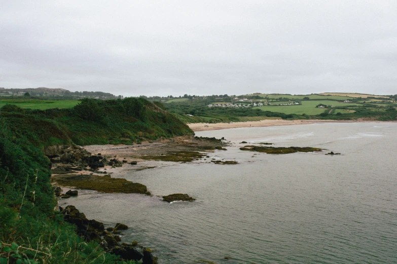
M 17 105 L 25 109 L 40 109 L 46 110 L 50 108 L 71 108 L 80 103 L 77 100 L 60 100 L 60 101 L 47 101 L 47 100 L 13 100 L 5 99 L 0 100 L 0 107 L 7 104 Z

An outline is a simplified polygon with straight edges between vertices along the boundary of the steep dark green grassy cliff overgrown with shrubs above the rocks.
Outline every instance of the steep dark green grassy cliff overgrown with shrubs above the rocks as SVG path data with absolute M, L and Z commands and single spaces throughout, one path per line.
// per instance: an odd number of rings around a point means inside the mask
M 50 161 L 54 144 L 132 144 L 193 134 L 161 104 L 143 99 L 85 99 L 71 109 L 0 109 L 0 263 L 115 263 L 86 243 L 54 210 Z M 17 262 L 18 261 L 18 262 Z M 123 261 L 119 261 L 123 262 Z

